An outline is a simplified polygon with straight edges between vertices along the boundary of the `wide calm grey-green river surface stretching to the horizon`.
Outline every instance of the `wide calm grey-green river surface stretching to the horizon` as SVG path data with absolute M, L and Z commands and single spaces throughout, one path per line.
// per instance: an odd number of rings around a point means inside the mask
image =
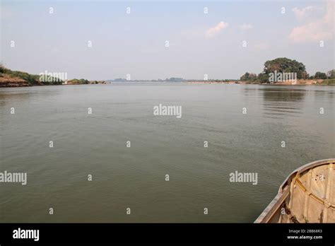
M 1 88 L 0 172 L 27 185 L 0 183 L 0 221 L 253 222 L 295 168 L 334 158 L 334 101 L 326 86 Z

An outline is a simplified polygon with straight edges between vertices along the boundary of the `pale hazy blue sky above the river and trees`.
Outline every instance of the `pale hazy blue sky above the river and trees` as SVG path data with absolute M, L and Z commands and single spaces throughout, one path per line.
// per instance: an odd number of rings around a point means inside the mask
M 314 74 L 334 69 L 330 6 L 327 1 L 2 0 L 0 57 L 10 69 L 90 80 L 127 74 L 239 78 L 245 71 L 258 74 L 276 57 L 297 59 Z

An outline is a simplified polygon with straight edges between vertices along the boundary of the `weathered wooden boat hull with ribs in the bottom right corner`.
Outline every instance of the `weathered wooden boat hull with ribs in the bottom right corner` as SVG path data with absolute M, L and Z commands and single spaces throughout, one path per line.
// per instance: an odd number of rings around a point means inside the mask
M 254 223 L 335 223 L 335 159 L 294 170 Z

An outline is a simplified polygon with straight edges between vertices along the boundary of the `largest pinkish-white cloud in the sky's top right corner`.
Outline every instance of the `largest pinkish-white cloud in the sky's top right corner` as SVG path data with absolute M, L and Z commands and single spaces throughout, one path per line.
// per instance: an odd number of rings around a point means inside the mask
M 334 11 L 334 2 L 331 0 L 327 1 L 327 11 L 323 18 L 293 28 L 288 38 L 292 42 L 298 43 L 331 40 L 334 35 L 334 27 L 332 24 L 335 15 Z

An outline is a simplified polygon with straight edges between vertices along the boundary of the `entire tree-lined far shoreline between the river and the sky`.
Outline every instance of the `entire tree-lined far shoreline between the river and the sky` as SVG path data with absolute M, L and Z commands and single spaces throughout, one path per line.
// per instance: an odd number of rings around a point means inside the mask
M 131 80 L 130 74 L 127 78 L 114 78 L 106 81 L 92 81 L 85 78 L 68 79 L 65 72 L 48 72 L 28 74 L 23 71 L 12 71 L 0 64 L 0 87 L 21 86 L 58 86 L 58 85 L 88 85 L 88 84 L 112 84 L 112 83 L 189 83 L 189 84 L 257 84 L 278 86 L 335 86 L 335 69 L 330 71 L 317 71 L 310 76 L 305 65 L 299 61 L 278 57 L 264 63 L 264 69 L 260 74 L 245 72 L 240 78 L 215 79 L 208 78 L 181 78 L 170 77 L 165 79 Z

